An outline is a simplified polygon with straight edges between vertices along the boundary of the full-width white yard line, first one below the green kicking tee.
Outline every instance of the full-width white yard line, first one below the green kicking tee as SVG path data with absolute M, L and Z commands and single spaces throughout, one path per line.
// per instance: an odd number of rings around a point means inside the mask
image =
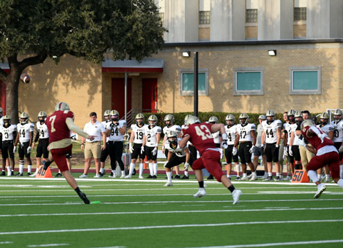
M 192 205 L 195 206 L 195 205 Z M 202 206 L 202 205 L 197 205 Z M 323 210 L 342 210 L 343 206 L 327 208 L 294 208 L 288 207 L 265 207 L 264 209 L 219 209 L 219 210 L 185 210 L 185 211 L 143 211 L 143 212 L 105 212 L 105 213 L 24 213 L 16 215 L 0 215 L 0 217 L 31 217 L 31 216 L 59 216 L 59 215 L 134 215 L 134 214 L 156 214 L 156 213 L 227 213 L 227 212 L 258 212 L 258 211 L 323 211 Z

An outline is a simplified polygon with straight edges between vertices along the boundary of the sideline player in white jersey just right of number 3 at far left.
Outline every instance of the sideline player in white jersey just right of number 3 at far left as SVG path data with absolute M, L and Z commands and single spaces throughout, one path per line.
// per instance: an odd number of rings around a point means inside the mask
M 13 152 L 17 151 L 17 144 L 19 142 L 19 173 L 17 176 L 22 177 L 24 171 L 24 156 L 28 163 L 28 176 L 31 175 L 32 161 L 31 161 L 31 145 L 33 141 L 33 131 L 35 130 L 35 125 L 33 123 L 28 123 L 28 113 L 22 112 L 20 115 L 20 123 L 17 124 L 17 138 L 15 139 L 15 146 Z

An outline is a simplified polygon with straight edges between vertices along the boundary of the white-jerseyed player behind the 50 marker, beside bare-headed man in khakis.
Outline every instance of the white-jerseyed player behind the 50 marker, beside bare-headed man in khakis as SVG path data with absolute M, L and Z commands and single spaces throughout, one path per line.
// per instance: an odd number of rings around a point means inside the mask
M 303 121 L 301 111 L 295 112 L 294 118 L 295 118 L 295 125 L 293 125 L 292 129 L 289 131 L 290 132 L 289 154 L 292 151 L 292 154 L 290 154 L 290 155 L 294 156 L 294 170 L 300 170 L 301 169 L 301 163 L 300 163 L 301 157 L 300 157 L 298 139 L 303 139 L 303 137 L 301 134 L 297 134 L 297 128 L 299 127 L 299 125 L 301 125 L 301 122 Z

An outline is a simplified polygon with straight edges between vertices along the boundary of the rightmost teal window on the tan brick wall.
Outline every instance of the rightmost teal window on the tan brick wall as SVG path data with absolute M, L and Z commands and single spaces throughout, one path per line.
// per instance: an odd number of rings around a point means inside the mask
M 290 67 L 290 95 L 322 94 L 321 67 Z

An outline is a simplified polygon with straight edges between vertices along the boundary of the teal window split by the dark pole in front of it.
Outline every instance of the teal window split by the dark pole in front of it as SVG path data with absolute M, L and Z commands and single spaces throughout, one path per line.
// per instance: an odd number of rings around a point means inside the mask
M 198 73 L 198 94 L 208 96 L 209 76 L 208 69 L 199 69 Z M 181 96 L 194 95 L 194 73 L 193 69 L 179 69 L 179 89 Z

